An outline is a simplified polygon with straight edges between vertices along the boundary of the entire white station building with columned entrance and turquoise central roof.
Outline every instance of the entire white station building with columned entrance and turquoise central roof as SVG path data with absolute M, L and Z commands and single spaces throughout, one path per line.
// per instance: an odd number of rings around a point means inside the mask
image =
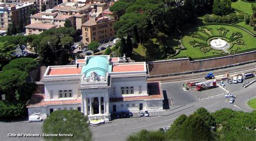
M 88 56 L 76 65 L 49 66 L 44 94 L 32 96 L 29 115 L 43 118 L 55 110 L 79 110 L 89 119 L 109 121 L 111 113 L 163 110 L 160 82 L 147 82 L 145 62 L 109 55 Z

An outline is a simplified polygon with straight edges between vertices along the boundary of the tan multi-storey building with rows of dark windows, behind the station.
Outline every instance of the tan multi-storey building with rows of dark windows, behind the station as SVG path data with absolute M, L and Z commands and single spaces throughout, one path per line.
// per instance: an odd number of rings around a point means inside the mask
M 116 32 L 113 29 L 115 20 L 112 17 L 99 17 L 93 16 L 82 25 L 83 43 L 90 44 L 91 41 L 99 41 L 114 38 Z

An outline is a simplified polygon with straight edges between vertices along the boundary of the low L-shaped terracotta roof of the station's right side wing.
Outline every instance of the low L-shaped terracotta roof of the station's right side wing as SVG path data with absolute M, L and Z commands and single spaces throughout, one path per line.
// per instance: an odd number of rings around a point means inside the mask
M 147 88 L 149 91 L 149 95 L 110 98 L 110 102 L 136 101 L 136 100 L 163 100 L 164 99 L 159 82 L 148 82 Z

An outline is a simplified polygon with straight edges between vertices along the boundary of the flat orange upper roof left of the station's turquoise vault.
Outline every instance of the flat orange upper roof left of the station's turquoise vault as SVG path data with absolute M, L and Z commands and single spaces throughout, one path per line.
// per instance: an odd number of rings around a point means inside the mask
M 82 68 L 50 69 L 47 75 L 80 74 Z

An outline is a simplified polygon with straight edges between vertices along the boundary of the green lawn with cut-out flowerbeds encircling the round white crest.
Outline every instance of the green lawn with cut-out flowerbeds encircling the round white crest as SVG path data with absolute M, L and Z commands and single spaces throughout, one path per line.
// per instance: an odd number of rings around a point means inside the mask
M 225 52 L 213 50 L 211 47 L 209 47 L 208 39 L 213 37 L 212 35 L 206 36 L 205 33 L 199 32 L 199 29 L 201 27 L 207 27 L 208 29 L 213 29 L 213 36 L 218 38 L 219 32 L 217 29 L 220 29 L 221 27 L 224 27 L 226 30 L 229 30 L 225 36 L 222 36 L 225 40 L 230 42 L 230 44 L 233 44 L 233 47 L 229 48 L 227 51 L 230 53 L 239 53 L 244 52 L 246 50 L 253 50 L 256 49 L 255 46 L 255 38 L 253 38 L 250 34 L 247 32 L 238 29 L 237 27 L 229 26 L 229 25 L 205 25 L 205 26 L 199 26 L 194 27 L 184 33 L 182 44 L 186 48 L 186 50 L 181 50 L 178 55 L 176 55 L 174 58 L 181 58 L 181 57 L 191 57 L 192 59 L 199 59 L 199 58 L 207 58 L 207 57 L 216 57 L 219 55 L 225 55 Z M 193 32 L 197 32 L 200 34 L 200 36 L 203 36 L 204 39 L 199 38 L 193 38 Z M 207 33 L 211 34 L 210 31 L 206 31 Z M 233 41 L 231 41 L 231 37 L 233 33 L 240 32 L 242 34 L 242 37 L 237 38 Z M 192 46 L 191 41 L 197 41 L 200 43 L 200 46 Z M 242 43 L 243 44 L 239 44 Z M 202 43 L 202 44 L 201 44 Z

